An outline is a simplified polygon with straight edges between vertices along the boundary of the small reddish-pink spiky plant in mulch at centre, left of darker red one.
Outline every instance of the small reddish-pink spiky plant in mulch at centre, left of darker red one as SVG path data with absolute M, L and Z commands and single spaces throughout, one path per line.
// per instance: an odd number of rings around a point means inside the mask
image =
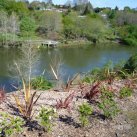
M 65 100 L 62 99 L 57 100 L 56 108 L 70 110 L 74 96 L 75 96 L 75 92 L 71 93 Z

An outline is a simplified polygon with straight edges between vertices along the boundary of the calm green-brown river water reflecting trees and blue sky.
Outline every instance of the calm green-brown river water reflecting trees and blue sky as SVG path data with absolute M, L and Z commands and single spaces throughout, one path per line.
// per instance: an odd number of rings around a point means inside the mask
M 135 47 L 109 44 L 106 46 L 64 47 L 53 49 L 39 49 L 39 60 L 33 68 L 33 75 L 40 75 L 45 71 L 45 76 L 51 78 L 50 65 L 58 68 L 60 76 L 66 80 L 76 73 L 88 72 L 95 67 L 102 67 L 108 61 L 114 64 L 126 60 L 137 52 Z M 0 48 L 0 87 L 8 92 L 12 91 L 12 84 L 17 83 L 15 74 L 11 73 L 13 61 L 20 59 L 20 50 L 16 48 Z M 10 64 L 10 65 L 9 65 Z

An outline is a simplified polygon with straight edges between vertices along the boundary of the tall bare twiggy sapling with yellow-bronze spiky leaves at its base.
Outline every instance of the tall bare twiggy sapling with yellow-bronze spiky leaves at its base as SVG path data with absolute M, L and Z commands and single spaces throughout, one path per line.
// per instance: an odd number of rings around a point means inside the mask
M 33 73 L 32 69 L 36 61 L 37 50 L 32 45 L 22 47 L 21 59 L 18 60 L 18 62 L 14 61 L 16 73 L 22 82 L 24 102 L 20 101 L 19 95 L 14 94 L 13 97 L 15 99 L 19 112 L 21 113 L 21 115 L 23 115 L 24 118 L 27 119 L 32 118 L 33 106 L 36 104 L 40 97 L 40 95 L 38 97 L 35 97 L 36 91 L 31 91 L 31 78 Z

